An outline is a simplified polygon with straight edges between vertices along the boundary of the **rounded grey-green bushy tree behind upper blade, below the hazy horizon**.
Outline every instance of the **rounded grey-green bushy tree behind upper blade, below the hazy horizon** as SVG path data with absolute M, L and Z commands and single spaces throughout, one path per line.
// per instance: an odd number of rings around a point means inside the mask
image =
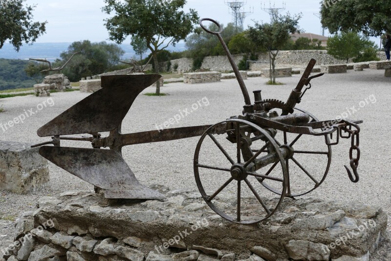
M 125 53 L 121 47 L 106 42 L 91 43 L 88 40 L 74 42 L 67 51 L 60 54 L 61 60 L 57 60 L 54 66 L 63 65 L 73 53 L 78 51 L 81 53 L 73 56 L 62 70 L 70 81 L 79 81 L 80 78 L 115 70 Z

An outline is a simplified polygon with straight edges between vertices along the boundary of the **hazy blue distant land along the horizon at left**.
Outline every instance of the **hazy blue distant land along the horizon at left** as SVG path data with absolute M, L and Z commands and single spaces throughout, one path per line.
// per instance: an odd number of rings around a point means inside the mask
M 60 58 L 60 53 L 66 51 L 71 44 L 72 43 L 34 43 L 31 46 L 22 46 L 19 52 L 16 52 L 12 45 L 4 44 L 0 49 L 0 58 L 22 60 L 28 60 L 29 58 L 46 58 L 48 61 L 55 61 L 57 58 Z M 135 55 L 130 44 L 122 44 L 120 46 L 125 51 L 123 59 L 130 59 Z M 185 43 L 178 43 L 175 47 L 170 46 L 167 49 L 171 51 L 183 51 L 186 47 Z M 149 52 L 144 54 L 144 56 L 147 56 L 148 54 Z

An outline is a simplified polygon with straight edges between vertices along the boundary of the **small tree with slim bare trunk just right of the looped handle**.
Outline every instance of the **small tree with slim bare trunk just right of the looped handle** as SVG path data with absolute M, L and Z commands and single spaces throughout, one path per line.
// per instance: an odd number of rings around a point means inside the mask
M 276 84 L 276 57 L 288 43 L 290 34 L 300 32 L 298 27 L 300 18 L 301 15 L 291 17 L 288 13 L 285 16 L 279 15 L 272 24 L 256 23 L 254 27 L 249 27 L 248 35 L 251 41 L 268 50 L 271 64 L 271 84 Z

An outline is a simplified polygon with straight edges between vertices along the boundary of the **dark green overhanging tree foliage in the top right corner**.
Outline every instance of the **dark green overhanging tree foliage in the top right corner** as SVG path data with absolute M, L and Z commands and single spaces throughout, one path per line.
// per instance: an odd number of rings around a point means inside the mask
M 356 31 L 379 36 L 391 32 L 391 1 L 323 0 L 321 4 L 321 22 L 330 33 Z

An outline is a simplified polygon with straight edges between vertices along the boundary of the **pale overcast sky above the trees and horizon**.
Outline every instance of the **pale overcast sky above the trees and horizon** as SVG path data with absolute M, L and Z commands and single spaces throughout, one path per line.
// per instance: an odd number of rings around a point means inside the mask
M 227 1 L 227 0 L 225 0 Z M 234 0 L 228 0 L 234 1 Z M 240 0 L 239 0 L 240 1 Z M 270 17 L 261 9 L 269 7 L 269 1 L 242 0 L 247 2 L 244 11 L 254 10 L 254 13 L 244 21 L 244 27 L 255 21 L 269 22 Z M 287 0 L 286 9 L 292 15 L 302 13 L 300 27 L 304 32 L 321 34 L 320 19 L 314 15 L 319 13 L 320 0 Z M 37 43 L 59 43 L 90 40 L 91 42 L 107 41 L 109 38 L 103 20 L 109 16 L 102 13 L 104 0 L 26 0 L 26 3 L 36 4 L 34 20 L 47 21 L 46 33 Z M 276 7 L 282 7 L 282 0 L 271 1 Z M 229 7 L 224 0 L 188 0 L 185 9 L 195 9 L 201 18 L 212 18 L 220 23 L 232 22 Z M 328 32 L 326 31 L 326 36 Z M 130 40 L 127 40 L 130 42 Z

